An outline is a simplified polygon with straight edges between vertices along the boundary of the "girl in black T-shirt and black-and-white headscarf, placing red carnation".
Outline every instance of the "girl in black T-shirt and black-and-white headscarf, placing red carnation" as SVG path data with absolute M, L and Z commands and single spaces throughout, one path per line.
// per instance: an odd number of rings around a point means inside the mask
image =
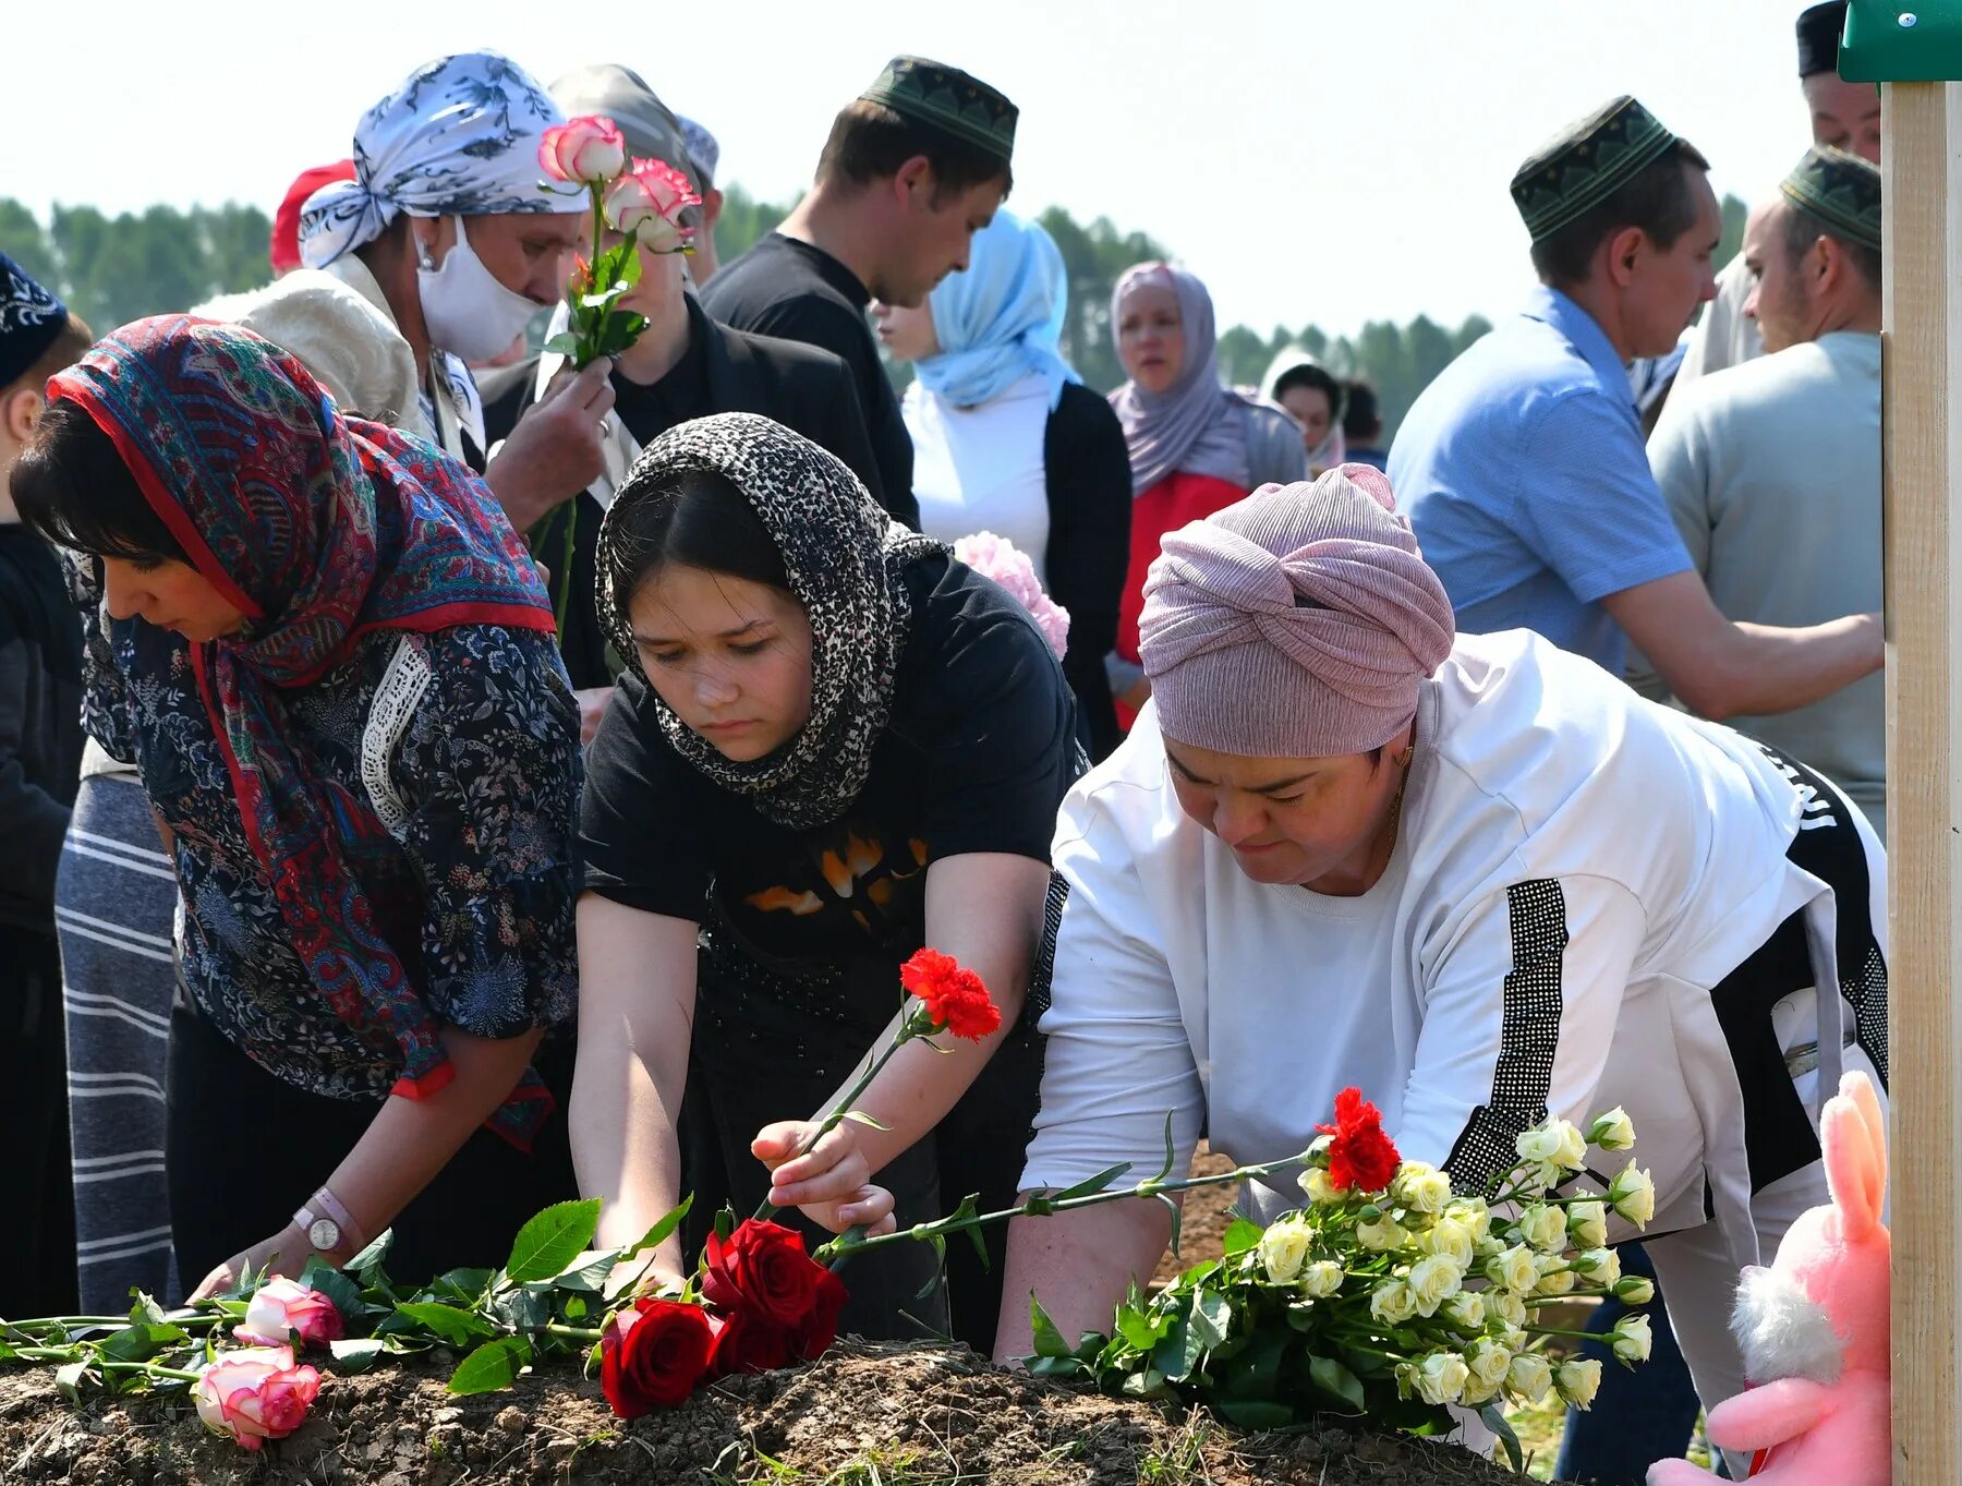
M 573 1158 L 600 1243 L 732 1199 L 824 1229 L 1012 1195 L 1040 1050 L 1022 1015 L 1056 805 L 1077 766 L 1028 612 L 897 526 L 830 453 L 751 414 L 663 434 L 600 534 L 630 673 L 589 748 Z M 989 985 L 981 1044 L 908 1044 L 808 1154 L 810 1119 L 883 1050 L 922 944 Z M 693 1058 L 691 1058 L 693 1052 Z M 675 1121 L 687 1091 L 687 1164 Z M 775 1176 L 771 1174 L 775 1168 Z M 789 1221 L 797 1221 L 795 1215 Z M 987 1343 L 995 1266 L 852 1266 L 844 1327 Z M 661 1264 L 683 1268 L 669 1241 Z

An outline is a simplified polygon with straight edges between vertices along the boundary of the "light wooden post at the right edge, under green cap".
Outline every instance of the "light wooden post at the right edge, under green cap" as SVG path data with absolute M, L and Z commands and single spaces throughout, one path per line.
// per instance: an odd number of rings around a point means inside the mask
M 1962 84 L 1882 86 L 1893 1480 L 1962 1484 Z

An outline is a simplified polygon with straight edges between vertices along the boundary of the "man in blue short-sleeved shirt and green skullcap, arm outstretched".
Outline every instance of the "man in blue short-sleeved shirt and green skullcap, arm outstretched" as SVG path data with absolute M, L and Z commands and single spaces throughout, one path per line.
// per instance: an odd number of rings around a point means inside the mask
M 1521 165 L 1540 289 L 1417 398 L 1389 479 L 1460 630 L 1538 630 L 1617 675 L 1632 638 L 1697 713 L 1762 716 L 1880 669 L 1882 632 L 1727 620 L 1650 475 L 1626 363 L 1715 294 L 1707 171 L 1626 96 Z

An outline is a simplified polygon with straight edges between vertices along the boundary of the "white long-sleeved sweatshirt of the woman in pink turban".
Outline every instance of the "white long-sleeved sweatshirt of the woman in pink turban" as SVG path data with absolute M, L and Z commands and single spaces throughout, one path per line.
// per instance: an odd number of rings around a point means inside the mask
M 1236 1160 L 1301 1152 L 1354 1084 L 1405 1158 L 1470 1190 L 1544 1109 L 1621 1103 L 1656 1178 L 1652 1231 L 1701 1223 L 1705 1180 L 1738 1219 L 1742 1095 L 1709 991 L 1809 905 L 1831 946 L 1831 889 L 1785 856 L 1805 813 L 1727 728 L 1524 630 L 1460 636 L 1422 689 L 1389 868 L 1326 897 L 1252 881 L 1179 809 L 1148 711 L 1063 803 L 1022 1186 L 1156 1172 L 1167 1111 L 1181 1172 L 1201 1121 Z M 1803 999 L 1783 1046 L 1815 1035 Z M 1301 1201 L 1291 1182 L 1248 1197 L 1262 1217 Z

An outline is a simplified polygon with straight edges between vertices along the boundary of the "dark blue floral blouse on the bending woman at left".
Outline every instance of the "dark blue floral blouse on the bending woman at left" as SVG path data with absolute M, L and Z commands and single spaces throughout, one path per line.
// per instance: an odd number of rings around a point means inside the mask
M 190 642 L 90 614 L 84 722 L 135 764 L 177 836 L 190 999 L 255 1062 L 312 1093 L 381 1099 L 402 1072 L 385 1035 L 343 1023 L 286 936 L 253 856 Z M 579 709 L 549 634 L 461 624 L 381 630 L 281 693 L 330 795 L 387 828 L 343 840 L 383 938 L 438 1019 L 520 1036 L 573 1015 Z

